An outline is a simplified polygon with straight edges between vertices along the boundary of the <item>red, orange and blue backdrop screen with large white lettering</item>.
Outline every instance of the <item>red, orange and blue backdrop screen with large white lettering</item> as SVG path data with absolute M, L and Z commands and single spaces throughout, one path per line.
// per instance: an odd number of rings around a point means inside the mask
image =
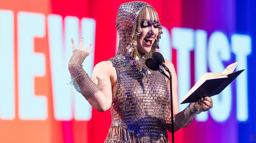
M 1 0 L 0 142 L 102 143 L 110 111 L 99 113 L 75 91 L 67 69 L 71 38 L 93 43 L 84 68 L 115 56 L 117 8 L 128 0 Z M 181 99 L 204 72 L 233 62 L 245 71 L 213 109 L 175 133 L 176 143 L 255 143 L 254 0 L 145 0 L 160 17 L 160 52 L 178 75 Z M 180 110 L 186 105 L 180 105 Z M 171 134 L 169 134 L 171 140 Z

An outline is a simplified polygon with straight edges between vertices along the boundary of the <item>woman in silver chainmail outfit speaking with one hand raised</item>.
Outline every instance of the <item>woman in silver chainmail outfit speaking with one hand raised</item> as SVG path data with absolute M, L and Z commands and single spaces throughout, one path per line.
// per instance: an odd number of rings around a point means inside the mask
M 158 48 L 161 24 L 154 8 L 145 2 L 120 5 L 116 27 L 119 35 L 117 55 L 98 63 L 92 79 L 82 68 L 91 45 L 78 50 L 73 44 L 69 71 L 73 85 L 98 111 L 110 108 L 112 123 L 105 143 L 110 142 L 169 142 L 171 132 L 170 81 L 158 71 L 149 70 L 145 61 Z M 205 98 L 190 103 L 179 112 L 177 76 L 173 64 L 165 59 L 172 73 L 174 130 L 188 126 L 196 114 L 212 107 Z M 165 71 L 166 72 L 166 71 Z

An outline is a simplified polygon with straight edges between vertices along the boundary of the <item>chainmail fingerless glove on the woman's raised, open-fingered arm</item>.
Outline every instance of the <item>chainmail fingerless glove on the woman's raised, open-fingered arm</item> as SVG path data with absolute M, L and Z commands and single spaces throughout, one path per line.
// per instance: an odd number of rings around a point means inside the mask
M 71 84 L 80 92 L 86 100 L 99 91 L 98 86 L 92 81 L 83 69 L 83 61 L 88 56 L 88 52 L 83 50 L 74 50 L 69 60 L 69 72 L 71 74 Z

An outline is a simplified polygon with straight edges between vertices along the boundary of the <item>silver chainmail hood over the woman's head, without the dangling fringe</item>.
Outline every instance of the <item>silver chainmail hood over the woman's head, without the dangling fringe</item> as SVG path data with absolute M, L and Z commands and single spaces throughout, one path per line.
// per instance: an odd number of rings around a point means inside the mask
M 117 50 L 117 55 L 126 56 L 130 54 L 130 53 L 127 53 L 127 50 L 128 50 L 127 46 L 130 45 L 131 47 L 133 47 L 134 42 L 137 40 L 136 33 L 137 34 L 139 33 L 138 27 L 140 27 L 140 23 L 141 23 L 141 21 L 138 21 L 137 18 L 140 11 L 146 7 L 153 9 L 153 11 L 156 13 L 156 10 L 151 5 L 141 1 L 123 3 L 122 5 L 119 6 L 117 11 L 117 18 L 116 18 L 116 27 L 119 35 L 119 46 Z M 157 15 L 157 20 L 159 21 L 158 15 Z M 160 25 L 158 26 L 159 26 L 159 29 L 161 29 L 161 26 Z M 151 52 L 151 54 L 156 51 L 158 42 L 159 42 L 159 36 L 152 45 L 153 52 Z M 136 44 L 135 44 L 135 48 L 137 48 Z

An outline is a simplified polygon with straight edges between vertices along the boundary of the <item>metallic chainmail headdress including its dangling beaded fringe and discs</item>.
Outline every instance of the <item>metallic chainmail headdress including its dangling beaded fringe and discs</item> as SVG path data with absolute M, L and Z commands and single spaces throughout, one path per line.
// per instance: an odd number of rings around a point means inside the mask
M 146 19 L 147 11 L 150 19 Z M 159 29 L 159 34 L 152 44 L 151 51 L 149 53 L 141 53 L 137 49 L 137 36 L 142 32 L 141 26 L 152 25 Z M 145 69 L 147 69 L 145 60 L 151 58 L 152 54 L 159 48 L 158 42 L 160 34 L 162 34 L 162 27 L 156 10 L 148 3 L 141 1 L 124 3 L 118 8 L 116 27 L 119 35 L 117 55 L 132 58 L 131 64 L 133 67 L 138 67 L 140 71 L 145 72 Z

